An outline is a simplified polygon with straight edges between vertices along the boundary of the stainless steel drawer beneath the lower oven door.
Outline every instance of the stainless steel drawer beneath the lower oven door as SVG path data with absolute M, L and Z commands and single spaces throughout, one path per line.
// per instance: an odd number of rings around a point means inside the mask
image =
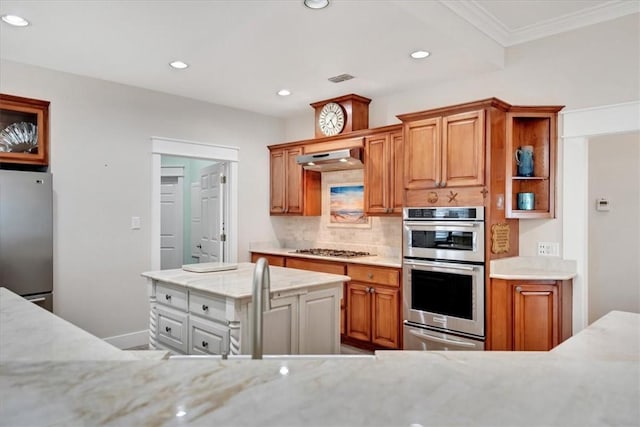
M 404 324 L 405 350 L 484 350 L 484 341 Z

